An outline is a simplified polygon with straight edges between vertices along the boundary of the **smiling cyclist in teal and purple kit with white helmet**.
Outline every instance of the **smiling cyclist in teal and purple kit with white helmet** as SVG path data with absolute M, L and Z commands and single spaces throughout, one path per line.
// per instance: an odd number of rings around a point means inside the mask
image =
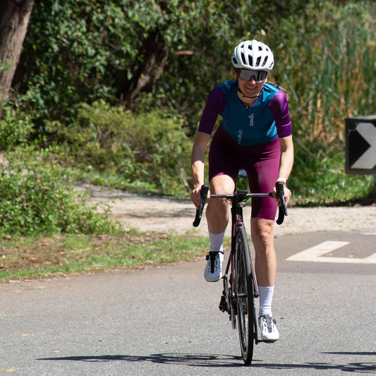
M 209 150 L 210 192 L 233 193 L 238 171 L 248 175 L 250 191 L 267 193 L 276 181 L 284 183 L 284 198 L 291 198 L 286 182 L 293 166 L 293 140 L 289 105 L 283 90 L 267 83 L 274 56 L 266 44 L 247 40 L 235 47 L 231 57 L 232 78 L 210 92 L 193 144 L 191 166 L 194 188 L 190 198 L 200 205 L 200 187 L 204 183 L 204 161 Z M 212 131 L 217 116 L 222 116 L 217 131 Z M 277 258 L 273 226 L 278 202 L 274 198 L 254 198 L 250 229 L 255 248 L 255 273 L 260 292 L 259 325 L 265 341 L 276 341 L 279 332 L 272 316 Z M 204 277 L 222 278 L 223 239 L 229 221 L 229 202 L 211 200 L 206 210 L 210 252 Z

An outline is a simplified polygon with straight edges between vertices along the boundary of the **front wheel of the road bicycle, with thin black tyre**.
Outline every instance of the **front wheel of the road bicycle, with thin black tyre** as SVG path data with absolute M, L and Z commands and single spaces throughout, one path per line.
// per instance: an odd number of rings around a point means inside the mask
M 248 238 L 243 226 L 236 228 L 236 283 L 235 296 L 238 314 L 238 334 L 241 356 L 246 365 L 252 363 L 257 322 L 255 320 L 255 297 L 253 275 L 250 267 Z

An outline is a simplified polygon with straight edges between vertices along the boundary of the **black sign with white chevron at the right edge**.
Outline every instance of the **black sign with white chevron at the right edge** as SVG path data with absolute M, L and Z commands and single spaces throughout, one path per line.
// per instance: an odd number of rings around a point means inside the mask
M 376 174 L 376 116 L 346 119 L 346 174 Z

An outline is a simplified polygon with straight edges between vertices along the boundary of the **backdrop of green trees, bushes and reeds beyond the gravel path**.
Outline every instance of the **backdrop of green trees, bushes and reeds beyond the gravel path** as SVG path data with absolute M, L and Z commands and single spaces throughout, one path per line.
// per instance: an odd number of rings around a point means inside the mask
M 46 181 L 188 197 L 205 99 L 234 45 L 256 38 L 290 93 L 294 196 L 364 198 L 375 178 L 344 174 L 344 119 L 375 114 L 375 14 L 374 1 L 36 1 L 0 147 L 27 171 L 42 152 Z

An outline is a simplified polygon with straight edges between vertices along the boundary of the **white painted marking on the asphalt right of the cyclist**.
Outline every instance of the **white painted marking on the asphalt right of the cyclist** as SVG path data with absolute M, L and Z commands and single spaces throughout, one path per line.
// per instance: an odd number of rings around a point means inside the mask
M 365 258 L 356 257 L 322 257 L 338 248 L 348 245 L 348 241 L 325 241 L 314 247 L 302 250 L 287 258 L 287 261 L 339 262 L 344 264 L 376 264 L 376 253 Z

